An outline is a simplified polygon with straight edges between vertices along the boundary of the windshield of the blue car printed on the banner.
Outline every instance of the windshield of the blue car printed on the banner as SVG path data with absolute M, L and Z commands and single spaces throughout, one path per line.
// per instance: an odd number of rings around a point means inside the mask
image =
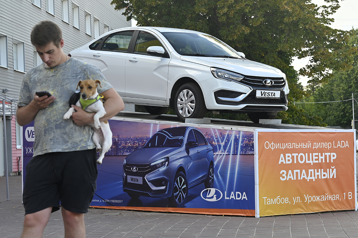
M 183 144 L 186 127 L 167 128 L 156 132 L 143 148 L 180 147 Z

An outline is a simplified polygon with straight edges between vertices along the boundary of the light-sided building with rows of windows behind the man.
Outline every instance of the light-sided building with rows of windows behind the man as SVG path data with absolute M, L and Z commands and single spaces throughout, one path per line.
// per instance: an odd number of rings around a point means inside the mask
M 3 98 L 18 98 L 25 73 L 42 63 L 31 44 L 30 33 L 33 26 L 43 20 L 61 27 L 66 54 L 107 31 L 131 26 L 122 11 L 114 10 L 111 0 L 0 0 L 0 96 Z M 21 156 L 18 140 L 21 130 L 15 130 L 17 127 L 13 116 L 11 134 L 12 144 L 15 144 L 12 145 L 10 172 L 22 170 L 17 163 Z M 0 164 L 4 162 L 2 155 L 0 150 Z

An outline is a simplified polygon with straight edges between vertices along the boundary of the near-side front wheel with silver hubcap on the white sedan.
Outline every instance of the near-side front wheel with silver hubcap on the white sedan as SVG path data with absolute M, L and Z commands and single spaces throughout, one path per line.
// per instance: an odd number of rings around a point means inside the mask
M 196 83 L 184 83 L 174 97 L 174 109 L 180 121 L 185 118 L 203 118 L 206 113 L 203 92 Z

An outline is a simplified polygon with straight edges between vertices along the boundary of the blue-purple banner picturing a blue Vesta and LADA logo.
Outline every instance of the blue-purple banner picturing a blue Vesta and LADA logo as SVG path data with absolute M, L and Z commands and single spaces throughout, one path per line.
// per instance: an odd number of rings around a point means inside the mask
M 112 119 L 92 207 L 255 216 L 253 130 Z M 24 166 L 33 140 L 25 126 Z

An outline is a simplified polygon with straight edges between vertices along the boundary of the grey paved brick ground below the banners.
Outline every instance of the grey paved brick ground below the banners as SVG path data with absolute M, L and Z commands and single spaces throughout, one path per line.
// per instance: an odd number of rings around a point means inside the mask
M 20 237 L 24 217 L 21 176 L 0 178 L 0 238 Z M 159 212 L 90 209 L 87 237 L 358 237 L 358 212 L 324 212 L 276 217 L 206 216 Z M 54 212 L 44 237 L 64 237 L 61 212 Z

